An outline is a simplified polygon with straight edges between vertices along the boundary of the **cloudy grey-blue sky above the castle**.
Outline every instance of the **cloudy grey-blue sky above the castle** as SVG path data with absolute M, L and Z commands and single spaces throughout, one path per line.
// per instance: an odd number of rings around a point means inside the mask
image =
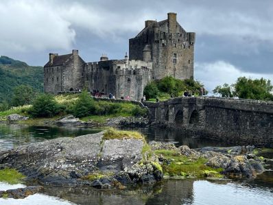
M 0 56 L 35 66 L 72 49 L 86 62 L 122 59 L 144 21 L 167 12 L 196 33 L 194 78 L 209 91 L 240 76 L 273 82 L 272 0 L 0 1 Z

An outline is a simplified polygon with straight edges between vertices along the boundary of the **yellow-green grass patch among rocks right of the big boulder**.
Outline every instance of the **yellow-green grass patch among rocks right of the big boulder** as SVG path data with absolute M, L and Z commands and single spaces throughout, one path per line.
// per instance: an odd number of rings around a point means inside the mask
M 163 157 L 169 161 L 162 165 L 163 173 L 167 176 L 191 176 L 196 178 L 213 177 L 221 178 L 222 169 L 214 169 L 206 166 L 206 158 L 198 158 L 193 160 L 187 156 L 180 154 L 176 150 L 158 149 L 154 151 L 156 155 Z

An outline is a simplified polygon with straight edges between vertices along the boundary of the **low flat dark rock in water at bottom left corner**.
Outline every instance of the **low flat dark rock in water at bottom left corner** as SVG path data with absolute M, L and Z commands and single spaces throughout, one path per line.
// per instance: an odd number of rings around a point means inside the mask
M 9 189 L 7 191 L 0 191 L 0 197 L 8 197 L 14 199 L 24 199 L 29 195 L 38 193 L 43 189 L 43 186 L 27 186 L 19 189 Z

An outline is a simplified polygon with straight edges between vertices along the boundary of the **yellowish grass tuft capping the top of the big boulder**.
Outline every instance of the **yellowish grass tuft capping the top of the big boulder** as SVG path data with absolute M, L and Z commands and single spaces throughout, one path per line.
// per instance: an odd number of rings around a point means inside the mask
M 103 140 L 110 140 L 110 139 L 128 139 L 128 138 L 136 138 L 145 141 L 145 138 L 139 132 L 133 131 L 121 131 L 116 130 L 114 128 L 108 128 L 106 132 L 104 132 Z

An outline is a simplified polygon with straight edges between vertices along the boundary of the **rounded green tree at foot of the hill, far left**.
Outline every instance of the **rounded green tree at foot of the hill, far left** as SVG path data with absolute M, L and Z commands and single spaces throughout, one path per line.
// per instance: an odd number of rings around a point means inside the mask
M 16 86 L 13 90 L 12 106 L 32 104 L 34 98 L 35 92 L 32 87 L 27 85 Z

